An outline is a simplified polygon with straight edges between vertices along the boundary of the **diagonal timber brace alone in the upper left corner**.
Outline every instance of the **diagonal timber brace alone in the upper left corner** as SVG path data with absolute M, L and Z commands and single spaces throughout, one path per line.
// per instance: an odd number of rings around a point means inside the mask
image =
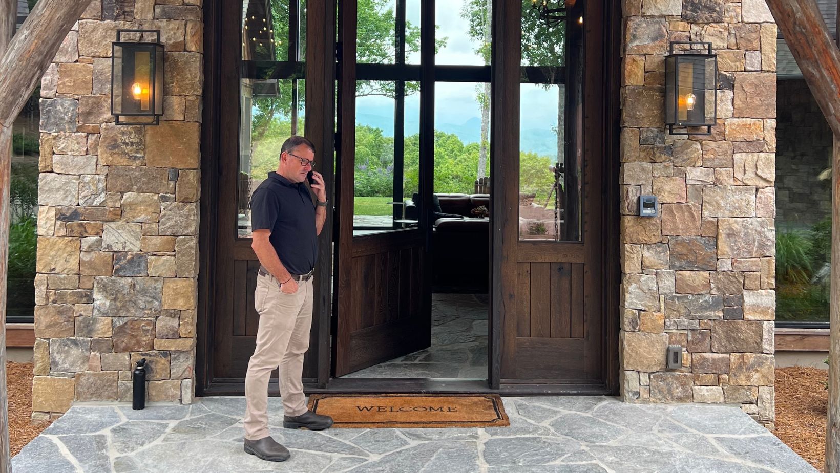
M 91 0 L 39 0 L 35 4 L 0 60 L 0 77 L 15 78 L 0 81 L 0 127 L 12 127 L 67 32 L 90 3 Z M 15 8 L 17 12 L 17 3 Z

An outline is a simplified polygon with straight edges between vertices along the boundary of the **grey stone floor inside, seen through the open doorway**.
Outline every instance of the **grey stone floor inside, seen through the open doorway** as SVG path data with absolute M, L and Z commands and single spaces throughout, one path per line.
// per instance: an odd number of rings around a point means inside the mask
M 487 378 L 487 296 L 432 295 L 432 346 L 344 378 Z

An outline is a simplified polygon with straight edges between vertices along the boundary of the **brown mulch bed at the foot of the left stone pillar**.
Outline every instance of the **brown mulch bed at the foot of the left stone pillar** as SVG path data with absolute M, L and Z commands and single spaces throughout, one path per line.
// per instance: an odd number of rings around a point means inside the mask
M 12 456 L 18 455 L 50 422 L 32 424 L 32 363 L 6 364 L 8 383 L 8 446 Z

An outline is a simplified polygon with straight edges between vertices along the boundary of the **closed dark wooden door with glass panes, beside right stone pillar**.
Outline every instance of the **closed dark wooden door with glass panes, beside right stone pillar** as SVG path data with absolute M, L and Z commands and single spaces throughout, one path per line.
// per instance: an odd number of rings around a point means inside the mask
M 567 3 L 566 21 L 554 25 L 520 1 L 496 5 L 491 311 L 501 330 L 494 347 L 501 364 L 492 385 L 563 385 L 550 389 L 590 393 L 610 392 L 614 385 L 609 363 L 616 341 L 607 339 L 612 325 L 606 303 L 612 268 L 605 263 L 615 263 L 608 199 L 617 180 L 606 166 L 613 115 L 605 4 Z M 527 103 L 534 94 L 550 94 L 564 109 L 558 160 L 549 168 L 552 188 L 543 202 L 535 201 L 542 201 L 538 175 L 521 148 L 525 130 L 535 126 Z

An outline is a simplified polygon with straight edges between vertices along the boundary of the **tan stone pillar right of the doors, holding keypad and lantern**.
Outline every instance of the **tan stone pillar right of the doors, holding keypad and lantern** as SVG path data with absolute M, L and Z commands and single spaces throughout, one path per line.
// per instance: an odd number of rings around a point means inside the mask
M 764 0 L 622 0 L 622 398 L 774 421 L 776 27 Z M 664 132 L 671 40 L 711 41 L 711 136 Z M 638 215 L 654 194 L 660 217 Z M 667 370 L 666 345 L 683 367 Z

